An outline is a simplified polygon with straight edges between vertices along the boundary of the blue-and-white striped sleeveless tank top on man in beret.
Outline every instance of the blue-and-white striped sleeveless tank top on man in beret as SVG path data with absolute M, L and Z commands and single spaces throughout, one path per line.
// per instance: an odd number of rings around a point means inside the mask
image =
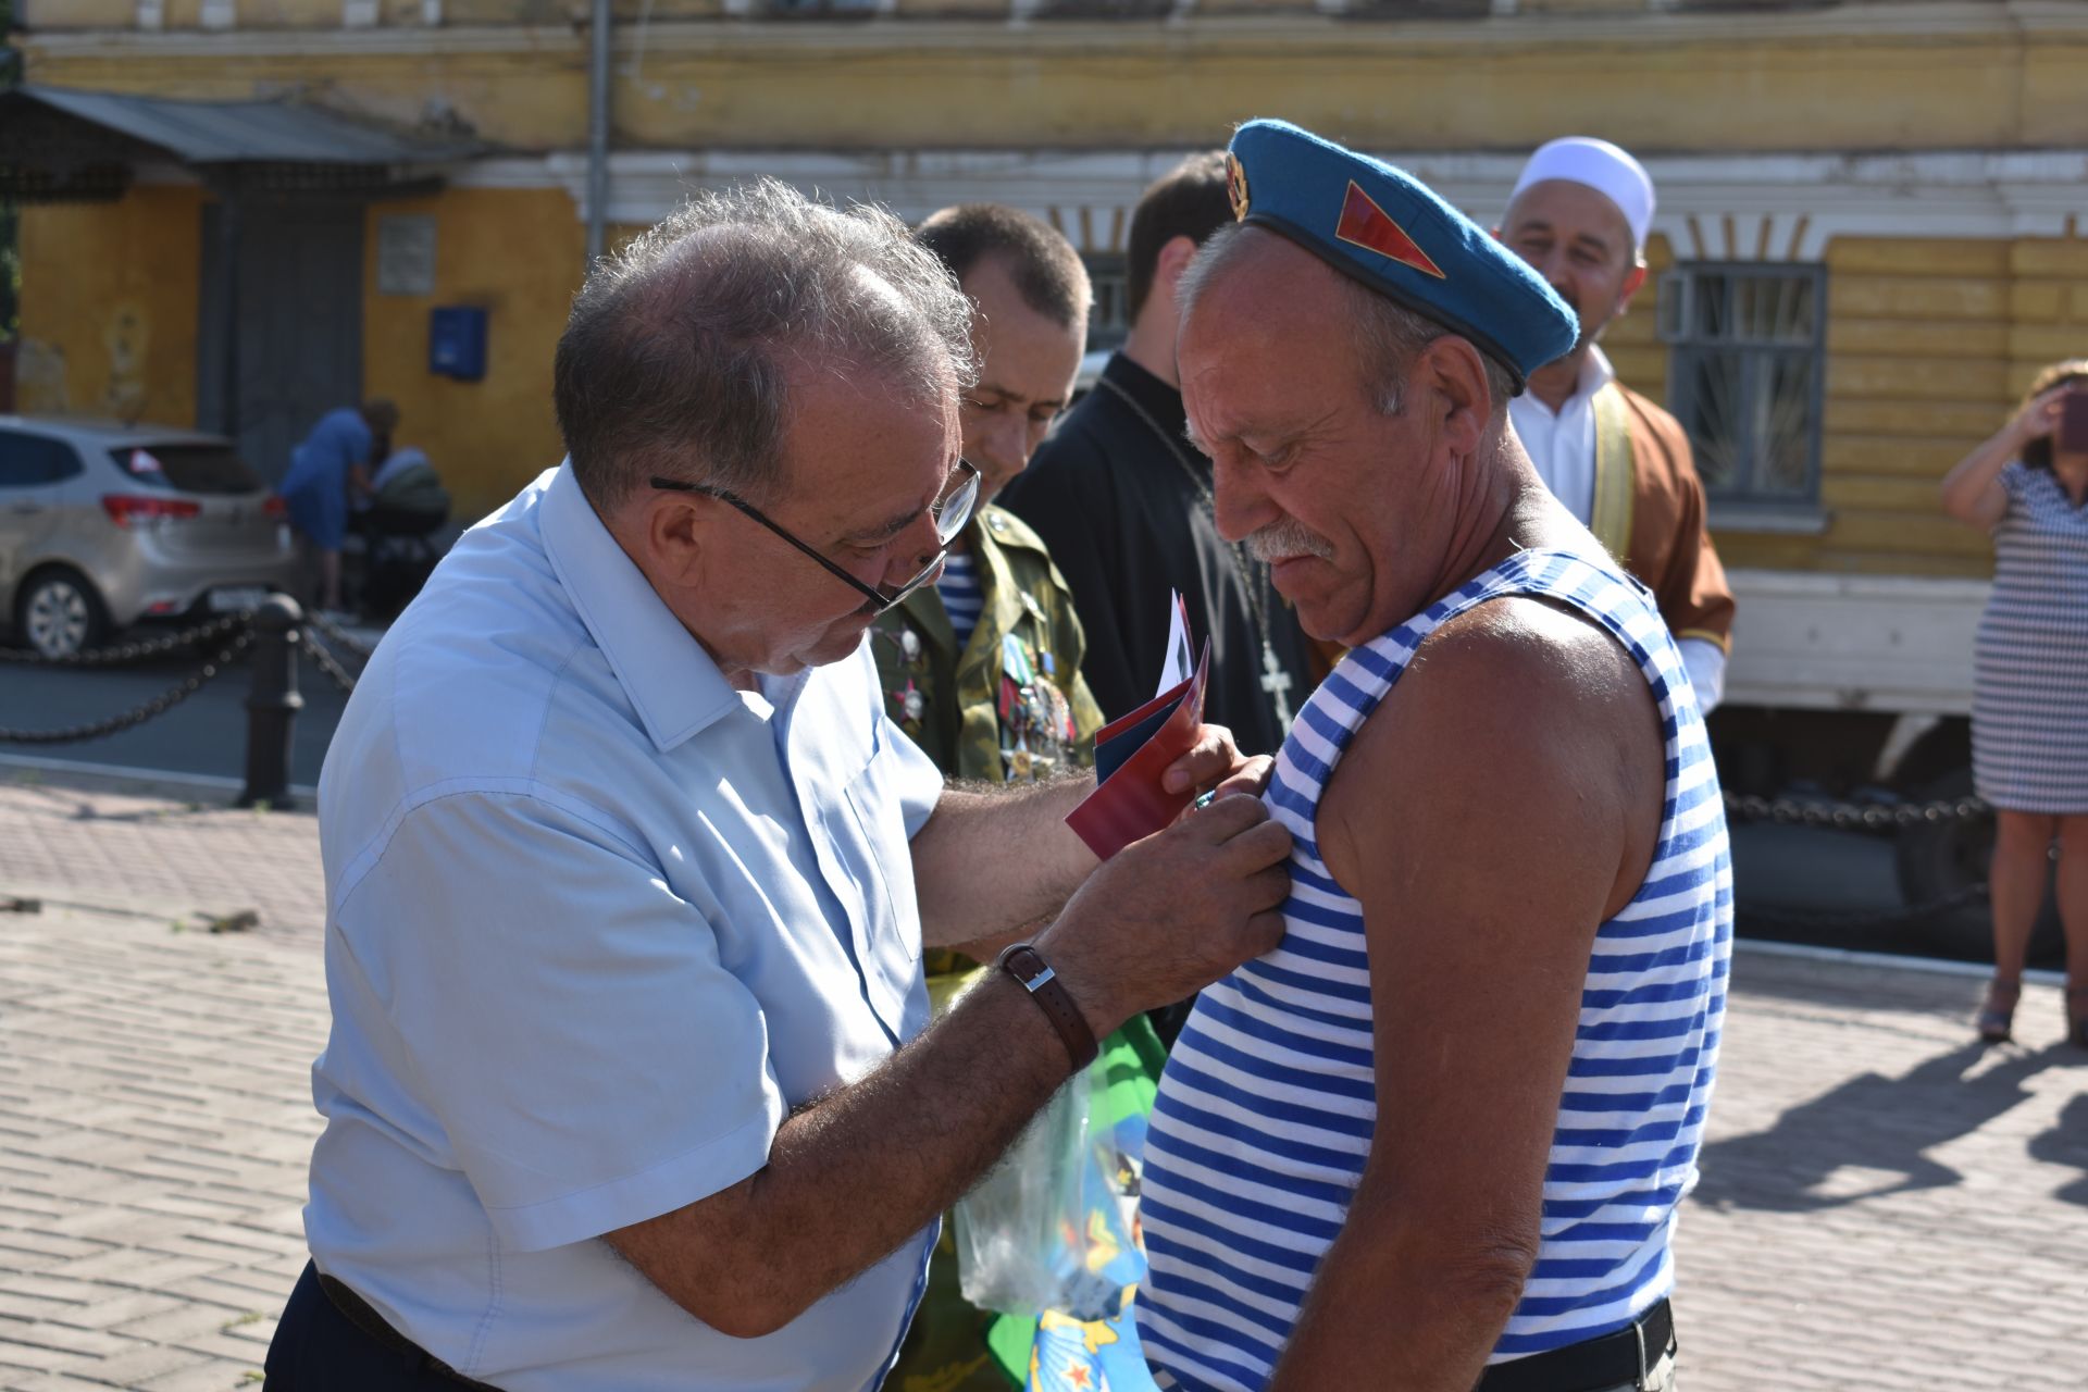
M 1645 883 L 1595 933 L 1537 1267 L 1489 1361 L 1622 1329 L 1675 1283 L 1733 945 L 1725 806 L 1645 589 L 1606 561 L 1522 551 L 1343 657 L 1284 741 L 1267 791 L 1295 837 L 1284 939 L 1203 991 L 1150 1119 L 1138 1334 L 1163 1388 L 1263 1388 L 1349 1213 L 1376 1127 L 1370 962 L 1361 906 L 1313 841 L 1320 793 L 1422 641 L 1503 595 L 1570 605 L 1631 651 L 1660 703 L 1666 797 Z

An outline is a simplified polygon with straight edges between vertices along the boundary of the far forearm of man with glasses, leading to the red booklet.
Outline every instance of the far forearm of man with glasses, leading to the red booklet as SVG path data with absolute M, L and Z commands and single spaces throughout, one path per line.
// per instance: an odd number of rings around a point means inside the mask
M 912 839 L 921 939 L 992 943 L 1050 918 L 1096 858 L 1065 824 L 1094 774 L 1009 787 L 952 785 Z

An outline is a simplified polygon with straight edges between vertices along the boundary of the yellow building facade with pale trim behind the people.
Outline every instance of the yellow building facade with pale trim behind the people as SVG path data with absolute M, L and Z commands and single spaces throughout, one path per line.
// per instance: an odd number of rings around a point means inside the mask
M 1739 568 L 1984 576 L 1988 545 L 1940 515 L 1936 480 L 2038 365 L 2088 355 L 2088 6 L 2071 0 L 612 8 L 601 215 L 624 232 L 689 188 L 775 173 L 904 217 L 1015 202 L 1107 280 L 1140 188 L 1247 117 L 1382 152 L 1482 219 L 1535 144 L 1616 140 L 1660 186 L 1656 275 L 1606 344 L 1620 376 L 1672 397 L 1677 363 L 1698 363 L 1700 405 L 1727 390 L 1727 367 L 1779 384 L 1743 405 L 1787 417 L 1729 422 L 1789 455 L 1760 465 L 1781 470 L 1781 493 L 1714 503 Z M 557 461 L 551 349 L 591 215 L 587 0 L 15 10 L 31 86 L 286 98 L 472 142 L 426 186 L 345 213 L 361 244 L 359 390 L 399 403 L 401 440 L 430 453 L 464 511 Z M 209 419 L 192 346 L 213 198 L 207 179 L 140 169 L 113 202 L 25 209 L 23 409 Z M 405 290 L 384 261 L 399 230 L 432 238 L 432 267 Z M 1681 298 L 1739 282 L 1804 305 L 1817 344 L 1775 359 L 1743 338 L 1685 342 Z M 430 374 L 438 305 L 484 311 L 480 380 Z

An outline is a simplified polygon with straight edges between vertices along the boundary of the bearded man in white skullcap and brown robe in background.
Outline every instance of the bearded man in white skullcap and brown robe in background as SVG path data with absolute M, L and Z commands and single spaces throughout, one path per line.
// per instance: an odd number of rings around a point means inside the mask
M 1522 167 L 1497 236 L 1581 317 L 1572 353 L 1508 403 L 1537 474 L 1660 601 L 1698 703 L 1725 693 L 1733 591 L 1704 530 L 1681 422 L 1624 388 L 1597 346 L 1645 284 L 1654 182 L 1608 140 L 1566 136 Z

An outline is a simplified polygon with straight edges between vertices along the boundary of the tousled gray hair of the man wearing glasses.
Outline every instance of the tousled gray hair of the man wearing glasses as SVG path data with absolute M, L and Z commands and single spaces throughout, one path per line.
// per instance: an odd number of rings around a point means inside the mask
M 779 179 L 697 194 L 574 296 L 553 365 L 574 478 L 603 511 L 654 474 L 773 497 L 793 367 L 946 399 L 977 374 L 971 303 L 881 209 Z

